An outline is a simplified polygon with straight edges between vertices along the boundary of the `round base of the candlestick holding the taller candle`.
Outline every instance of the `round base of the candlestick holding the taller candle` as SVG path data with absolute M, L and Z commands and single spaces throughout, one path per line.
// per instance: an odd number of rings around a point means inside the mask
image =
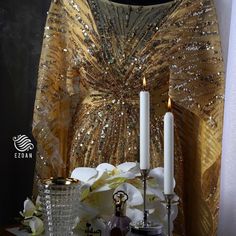
M 147 225 L 143 221 L 137 224 L 130 224 L 130 231 L 132 235 L 153 235 L 161 236 L 162 235 L 162 226 L 148 222 Z

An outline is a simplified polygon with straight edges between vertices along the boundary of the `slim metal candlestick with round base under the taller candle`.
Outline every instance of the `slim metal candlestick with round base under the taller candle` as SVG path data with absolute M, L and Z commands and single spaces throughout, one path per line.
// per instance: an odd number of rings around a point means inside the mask
M 149 170 L 141 170 L 142 180 L 143 180 L 143 220 L 137 224 L 131 224 L 131 233 L 134 235 L 161 235 L 162 226 L 153 223 L 148 220 L 148 210 L 147 210 L 147 179 Z

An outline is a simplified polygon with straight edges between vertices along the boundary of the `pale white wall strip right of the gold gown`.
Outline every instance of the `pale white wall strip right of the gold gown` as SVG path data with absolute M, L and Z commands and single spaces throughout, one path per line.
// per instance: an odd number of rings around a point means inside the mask
M 218 236 L 236 235 L 236 0 L 216 0 L 226 65 Z

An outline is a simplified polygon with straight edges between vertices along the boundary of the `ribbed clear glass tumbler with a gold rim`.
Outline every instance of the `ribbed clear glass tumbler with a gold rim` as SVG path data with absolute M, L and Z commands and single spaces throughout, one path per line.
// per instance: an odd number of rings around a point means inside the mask
M 50 178 L 39 184 L 46 235 L 73 235 L 79 186 L 72 178 Z

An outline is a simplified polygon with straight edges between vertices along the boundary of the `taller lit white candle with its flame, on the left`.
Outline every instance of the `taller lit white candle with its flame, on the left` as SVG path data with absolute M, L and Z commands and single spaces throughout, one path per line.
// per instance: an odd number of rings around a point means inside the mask
M 146 79 L 143 79 L 145 90 Z M 150 95 L 148 91 L 140 92 L 140 169 L 150 169 Z

